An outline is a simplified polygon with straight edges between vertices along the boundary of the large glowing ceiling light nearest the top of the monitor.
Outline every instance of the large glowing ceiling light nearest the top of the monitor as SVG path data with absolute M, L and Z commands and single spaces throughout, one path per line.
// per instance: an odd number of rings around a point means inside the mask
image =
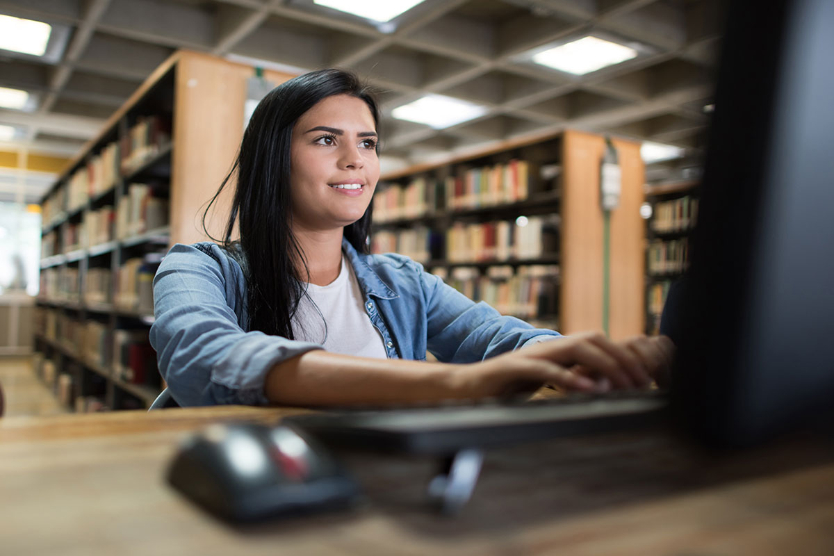
M 533 62 L 560 72 L 585 75 L 636 57 L 634 48 L 588 36 L 536 53 Z

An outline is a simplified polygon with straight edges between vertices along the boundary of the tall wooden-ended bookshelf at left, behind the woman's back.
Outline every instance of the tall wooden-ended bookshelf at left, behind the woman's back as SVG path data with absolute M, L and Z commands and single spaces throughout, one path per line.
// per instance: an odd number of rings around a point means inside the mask
M 38 372 L 69 408 L 147 408 L 163 388 L 155 362 L 142 381 L 120 376 L 113 338 L 121 330 L 147 334 L 153 323 L 149 281 L 159 256 L 173 243 L 207 239 L 202 210 L 234 162 L 253 76 L 254 68 L 244 64 L 174 53 L 44 196 L 35 348 L 43 354 L 39 366 L 50 367 Z M 264 72 L 274 84 L 291 77 Z M 132 191 L 136 183 L 147 190 Z M 128 198 L 132 193 L 136 199 Z M 228 202 L 229 195 L 221 198 L 208 218 L 214 236 L 223 229 Z M 155 219 L 148 217 L 150 205 Z M 137 207 L 142 218 L 120 220 L 123 208 Z M 91 281 L 98 288 L 92 293 Z

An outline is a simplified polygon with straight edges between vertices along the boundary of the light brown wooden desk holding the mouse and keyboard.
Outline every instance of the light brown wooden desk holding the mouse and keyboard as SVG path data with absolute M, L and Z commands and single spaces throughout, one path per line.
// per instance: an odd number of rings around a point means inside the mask
M 429 458 L 340 453 L 368 502 L 230 527 L 164 482 L 208 423 L 287 410 L 164 409 L 0 419 L 0 554 L 834 554 L 834 446 L 716 456 L 662 431 L 486 454 L 475 494 L 425 505 Z

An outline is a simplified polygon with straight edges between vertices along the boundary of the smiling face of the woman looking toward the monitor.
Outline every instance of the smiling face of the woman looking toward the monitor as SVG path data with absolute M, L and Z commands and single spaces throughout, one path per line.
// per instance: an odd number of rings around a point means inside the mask
M 379 180 L 374 117 L 363 100 L 324 98 L 293 127 L 293 228 L 326 231 L 356 222 Z

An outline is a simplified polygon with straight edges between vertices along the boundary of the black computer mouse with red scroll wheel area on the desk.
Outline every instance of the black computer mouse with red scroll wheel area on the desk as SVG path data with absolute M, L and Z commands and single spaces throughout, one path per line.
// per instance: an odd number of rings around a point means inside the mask
M 324 447 L 289 426 L 259 423 L 214 424 L 187 438 L 168 483 L 233 522 L 343 508 L 359 496 Z

